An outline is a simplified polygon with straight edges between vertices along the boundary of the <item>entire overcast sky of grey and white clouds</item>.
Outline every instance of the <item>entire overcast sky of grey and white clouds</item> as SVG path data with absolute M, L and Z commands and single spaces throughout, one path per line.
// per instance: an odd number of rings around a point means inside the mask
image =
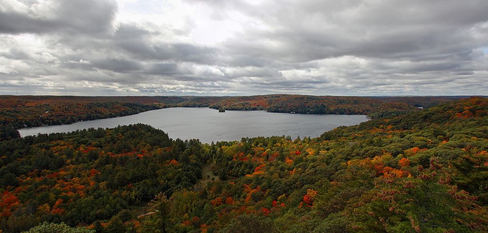
M 0 0 L 0 95 L 488 95 L 488 0 Z

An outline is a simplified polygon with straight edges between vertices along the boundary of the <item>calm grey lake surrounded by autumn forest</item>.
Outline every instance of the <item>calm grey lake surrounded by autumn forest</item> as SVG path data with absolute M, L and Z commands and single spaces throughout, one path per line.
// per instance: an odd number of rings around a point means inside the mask
M 320 136 L 342 125 L 356 125 L 364 115 L 312 115 L 264 111 L 219 111 L 209 108 L 166 108 L 126 117 L 81 121 L 20 129 L 21 136 L 71 132 L 88 128 L 114 128 L 143 123 L 166 132 L 171 138 L 198 138 L 202 142 L 241 140 L 256 136 Z

